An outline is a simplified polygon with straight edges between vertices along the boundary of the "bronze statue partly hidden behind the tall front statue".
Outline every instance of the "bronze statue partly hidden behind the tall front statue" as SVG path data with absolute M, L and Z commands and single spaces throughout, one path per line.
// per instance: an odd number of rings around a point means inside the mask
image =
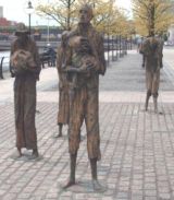
M 69 32 L 63 32 L 61 38 L 61 46 L 58 48 L 57 54 L 57 69 L 59 74 L 59 111 L 58 111 L 58 126 L 59 133 L 55 137 L 62 137 L 63 125 L 69 123 L 69 82 L 66 80 L 66 73 L 63 71 L 65 63 L 65 55 L 67 48 Z

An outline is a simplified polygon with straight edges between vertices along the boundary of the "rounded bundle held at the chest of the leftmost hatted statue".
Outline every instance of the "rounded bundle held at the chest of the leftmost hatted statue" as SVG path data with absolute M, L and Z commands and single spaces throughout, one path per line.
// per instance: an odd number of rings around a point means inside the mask
M 27 50 L 16 50 L 11 57 L 11 64 L 15 71 L 27 70 L 28 68 L 36 68 L 36 63 L 32 54 Z

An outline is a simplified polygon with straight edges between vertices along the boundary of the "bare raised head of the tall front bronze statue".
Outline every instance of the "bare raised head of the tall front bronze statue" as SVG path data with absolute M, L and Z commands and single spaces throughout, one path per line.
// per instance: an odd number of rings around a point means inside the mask
M 92 8 L 90 4 L 83 4 L 79 9 L 79 23 L 89 23 L 94 17 Z

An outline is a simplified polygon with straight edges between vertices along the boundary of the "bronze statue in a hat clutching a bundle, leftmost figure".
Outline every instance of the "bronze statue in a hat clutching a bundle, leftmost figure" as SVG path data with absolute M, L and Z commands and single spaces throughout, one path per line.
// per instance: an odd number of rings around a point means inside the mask
M 36 81 L 39 80 L 40 62 L 38 49 L 28 36 L 23 23 L 15 32 L 16 40 L 11 46 L 11 73 L 14 81 L 14 108 L 17 157 L 22 149 L 33 150 L 29 158 L 38 157 L 35 127 Z

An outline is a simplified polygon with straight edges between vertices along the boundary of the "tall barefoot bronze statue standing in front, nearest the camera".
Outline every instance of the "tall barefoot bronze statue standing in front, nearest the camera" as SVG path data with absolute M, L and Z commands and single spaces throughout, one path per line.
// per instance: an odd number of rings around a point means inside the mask
M 105 60 L 102 36 L 90 24 L 91 19 L 91 7 L 84 4 L 79 10 L 79 23 L 74 31 L 70 32 L 69 38 L 65 71 L 70 83 L 69 152 L 71 174 L 64 188 L 75 185 L 80 127 L 85 120 L 92 186 L 95 190 L 100 190 L 102 187 L 98 183 L 97 176 L 97 161 L 101 158 L 98 95 L 99 74 L 103 75 L 105 72 Z

